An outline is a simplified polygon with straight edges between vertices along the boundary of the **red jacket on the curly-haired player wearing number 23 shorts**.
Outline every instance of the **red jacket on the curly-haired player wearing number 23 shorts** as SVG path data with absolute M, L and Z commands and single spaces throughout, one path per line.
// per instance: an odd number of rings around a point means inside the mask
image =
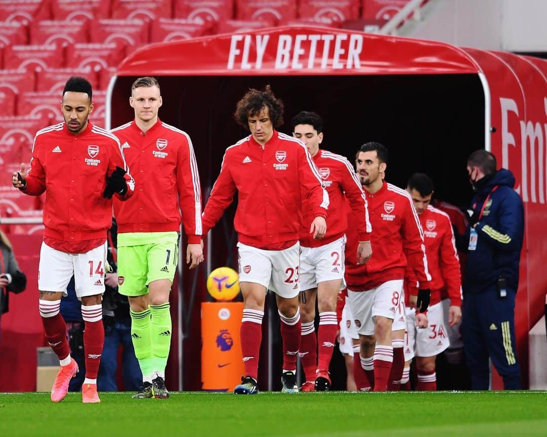
M 203 212 L 203 233 L 217 223 L 237 190 L 234 226 L 239 241 L 266 250 L 290 247 L 299 237 L 301 189 L 309 193 L 312 216 L 326 219 L 329 197 L 306 146 L 274 131 L 263 149 L 249 135 L 224 153 Z

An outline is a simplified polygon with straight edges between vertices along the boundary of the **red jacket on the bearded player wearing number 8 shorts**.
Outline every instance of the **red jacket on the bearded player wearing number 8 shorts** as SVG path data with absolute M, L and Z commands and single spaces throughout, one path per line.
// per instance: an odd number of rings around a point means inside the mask
M 420 288 L 428 288 L 431 276 L 427 268 L 422 227 L 409 193 L 387 182 L 383 182 L 376 193 L 365 193 L 374 230 L 370 240 L 373 256 L 368 263 L 357 265 L 357 217 L 346 202 L 348 290 L 366 291 L 383 282 L 404 279 L 407 262 L 416 272 Z

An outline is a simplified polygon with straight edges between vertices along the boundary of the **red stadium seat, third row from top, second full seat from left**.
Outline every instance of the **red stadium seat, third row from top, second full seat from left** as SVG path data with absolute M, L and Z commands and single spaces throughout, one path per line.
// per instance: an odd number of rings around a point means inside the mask
M 67 47 L 67 67 L 90 67 L 96 72 L 101 68 L 117 67 L 125 57 L 125 49 L 114 43 L 71 44 Z

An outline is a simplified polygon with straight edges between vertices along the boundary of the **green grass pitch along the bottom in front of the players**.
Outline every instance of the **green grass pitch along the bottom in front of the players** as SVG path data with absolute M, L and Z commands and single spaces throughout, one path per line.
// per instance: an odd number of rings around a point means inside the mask
M 546 392 L 0 394 L 0 436 L 547 436 Z

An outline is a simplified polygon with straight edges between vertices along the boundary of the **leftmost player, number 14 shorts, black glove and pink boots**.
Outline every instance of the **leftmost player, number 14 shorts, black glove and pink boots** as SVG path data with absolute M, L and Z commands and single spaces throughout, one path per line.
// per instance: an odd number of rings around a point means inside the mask
M 82 300 L 85 323 L 84 403 L 100 402 L 97 373 L 104 344 L 102 294 L 107 230 L 112 223 L 112 196 L 126 200 L 132 180 L 118 138 L 93 126 L 91 84 L 72 77 L 62 94 L 65 122 L 41 129 L 34 137 L 28 173 L 21 164 L 13 186 L 31 196 L 46 193 L 44 241 L 38 267 L 39 308 L 45 337 L 61 369 L 51 400 L 61 401 L 78 364 L 69 354 L 66 324 L 60 314 L 61 297 L 74 274 L 76 295 Z

